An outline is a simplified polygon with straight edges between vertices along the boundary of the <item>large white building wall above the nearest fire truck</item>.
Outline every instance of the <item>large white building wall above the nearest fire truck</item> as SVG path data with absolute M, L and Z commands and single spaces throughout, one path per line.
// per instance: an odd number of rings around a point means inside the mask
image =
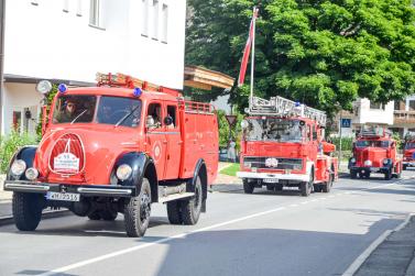
M 183 88 L 186 0 L 159 1 L 160 9 L 168 7 L 166 44 L 141 35 L 142 0 L 101 0 L 105 30 L 88 25 L 89 0 L 68 0 L 67 13 L 63 0 L 31 2 L 8 1 L 4 74 L 95 82 L 97 71 L 120 71 Z M 78 2 L 81 16 L 76 15 Z M 151 14 L 149 21 L 152 34 Z

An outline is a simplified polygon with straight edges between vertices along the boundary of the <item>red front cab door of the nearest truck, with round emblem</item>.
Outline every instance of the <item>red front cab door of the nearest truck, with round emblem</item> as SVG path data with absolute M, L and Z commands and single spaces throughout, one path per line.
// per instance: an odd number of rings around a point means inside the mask
M 159 180 L 164 177 L 166 145 L 161 102 L 151 102 L 145 114 L 146 152 L 154 159 Z

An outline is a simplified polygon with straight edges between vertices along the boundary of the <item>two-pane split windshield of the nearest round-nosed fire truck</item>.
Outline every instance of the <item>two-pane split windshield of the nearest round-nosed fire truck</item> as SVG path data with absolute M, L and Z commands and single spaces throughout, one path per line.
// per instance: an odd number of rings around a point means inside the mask
M 102 96 L 99 98 L 97 118 L 96 96 L 61 96 L 55 104 L 53 123 L 97 123 L 136 126 L 140 123 L 141 100 Z

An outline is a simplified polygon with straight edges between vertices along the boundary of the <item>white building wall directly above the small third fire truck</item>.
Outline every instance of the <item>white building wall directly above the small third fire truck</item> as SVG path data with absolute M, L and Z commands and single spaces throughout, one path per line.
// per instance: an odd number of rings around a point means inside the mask
M 358 99 L 354 104 L 359 108 L 358 117 L 352 119 L 352 124 L 380 123 L 393 124 L 393 101 L 390 101 L 385 109 L 370 109 L 370 100 Z

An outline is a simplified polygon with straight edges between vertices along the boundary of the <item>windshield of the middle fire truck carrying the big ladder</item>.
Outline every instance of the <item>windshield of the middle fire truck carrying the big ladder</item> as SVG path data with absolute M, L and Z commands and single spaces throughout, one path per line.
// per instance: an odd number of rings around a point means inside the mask
M 299 120 L 248 119 L 247 141 L 276 141 L 299 143 L 305 136 L 305 124 Z

